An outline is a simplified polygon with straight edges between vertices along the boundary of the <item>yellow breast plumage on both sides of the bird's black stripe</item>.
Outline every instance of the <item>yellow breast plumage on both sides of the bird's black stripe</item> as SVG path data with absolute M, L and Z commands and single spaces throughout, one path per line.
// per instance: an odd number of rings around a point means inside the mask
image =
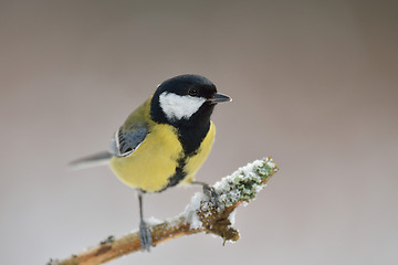
M 193 180 L 211 150 L 214 134 L 216 129 L 211 123 L 197 155 L 187 158 L 184 167 L 187 176 L 180 183 Z M 125 184 L 147 192 L 157 192 L 167 187 L 181 158 L 184 150 L 176 129 L 170 125 L 157 124 L 137 150 L 128 157 L 113 157 L 109 166 Z

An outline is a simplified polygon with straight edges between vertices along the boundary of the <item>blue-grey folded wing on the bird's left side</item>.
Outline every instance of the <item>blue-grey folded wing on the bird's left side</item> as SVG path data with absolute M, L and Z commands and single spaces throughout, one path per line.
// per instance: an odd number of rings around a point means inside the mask
M 139 147 L 147 135 L 148 127 L 146 125 L 128 130 L 122 126 L 111 140 L 109 152 L 116 157 L 127 157 Z

